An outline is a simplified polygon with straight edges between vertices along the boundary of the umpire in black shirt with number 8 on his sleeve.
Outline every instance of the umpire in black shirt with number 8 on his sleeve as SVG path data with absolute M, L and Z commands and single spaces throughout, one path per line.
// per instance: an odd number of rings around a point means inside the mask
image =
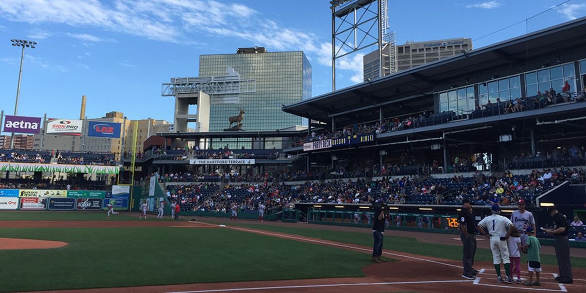
M 478 275 L 478 271 L 473 269 L 474 255 L 476 254 L 476 221 L 472 215 L 472 202 L 469 199 L 462 200 L 462 207 L 463 209 L 458 213 L 460 240 L 464 246 L 462 278 L 473 280 Z

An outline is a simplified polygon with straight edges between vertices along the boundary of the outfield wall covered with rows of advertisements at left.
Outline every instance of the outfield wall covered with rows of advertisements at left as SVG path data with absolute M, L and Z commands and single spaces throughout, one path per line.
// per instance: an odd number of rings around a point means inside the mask
M 0 189 L 0 210 L 128 210 L 130 186 L 105 190 Z

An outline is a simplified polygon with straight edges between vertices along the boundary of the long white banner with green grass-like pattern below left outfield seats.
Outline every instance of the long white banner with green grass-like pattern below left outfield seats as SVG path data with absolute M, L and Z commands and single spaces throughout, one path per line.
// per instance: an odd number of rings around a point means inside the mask
M 118 172 L 120 172 L 120 168 L 118 166 L 0 162 L 0 172 L 6 171 L 118 174 Z

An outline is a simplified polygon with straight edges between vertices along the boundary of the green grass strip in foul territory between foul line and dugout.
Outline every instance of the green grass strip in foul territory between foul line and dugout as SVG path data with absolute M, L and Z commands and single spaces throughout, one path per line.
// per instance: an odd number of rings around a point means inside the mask
M 317 239 L 338 241 L 342 243 L 350 243 L 361 246 L 372 246 L 372 236 L 366 233 L 359 232 L 345 232 L 345 231 L 332 231 L 332 230 L 320 230 L 320 229 L 309 229 L 304 227 L 284 227 L 284 226 L 273 226 L 263 224 L 248 224 L 248 223 L 230 223 L 226 222 L 226 225 L 250 227 L 254 229 L 267 230 L 282 232 L 288 234 L 296 234 L 301 236 L 314 237 Z M 419 255 L 425 255 L 430 257 L 444 258 L 448 260 L 462 260 L 462 246 L 459 245 L 448 245 L 448 244 L 434 244 L 434 243 L 423 243 L 417 241 L 412 237 L 401 237 L 391 236 L 393 231 L 390 230 L 384 237 L 383 248 L 387 250 L 401 251 L 404 253 L 413 253 Z M 434 234 L 430 233 L 430 237 Z M 581 248 L 572 248 L 581 249 Z M 521 254 L 522 263 L 526 262 L 527 255 Z M 489 261 L 492 262 L 492 253 L 489 249 L 478 248 L 476 250 L 475 261 Z M 586 268 L 586 258 L 584 257 L 572 257 L 573 268 Z M 557 260 L 555 255 L 544 255 L 541 254 L 541 263 L 545 265 L 557 266 Z

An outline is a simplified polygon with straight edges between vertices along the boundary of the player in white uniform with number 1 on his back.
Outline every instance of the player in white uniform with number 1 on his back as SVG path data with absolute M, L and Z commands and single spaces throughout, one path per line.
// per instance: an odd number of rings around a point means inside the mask
M 503 282 L 503 277 L 500 275 L 500 263 L 502 262 L 505 265 L 505 282 L 514 284 L 515 281 L 510 278 L 509 247 L 507 247 L 507 240 L 512 232 L 509 226 L 512 226 L 513 223 L 506 217 L 500 216 L 500 207 L 498 205 L 492 205 L 491 210 L 492 215 L 485 217 L 478 223 L 478 231 L 490 239 L 492 263 L 495 265 L 498 282 Z

